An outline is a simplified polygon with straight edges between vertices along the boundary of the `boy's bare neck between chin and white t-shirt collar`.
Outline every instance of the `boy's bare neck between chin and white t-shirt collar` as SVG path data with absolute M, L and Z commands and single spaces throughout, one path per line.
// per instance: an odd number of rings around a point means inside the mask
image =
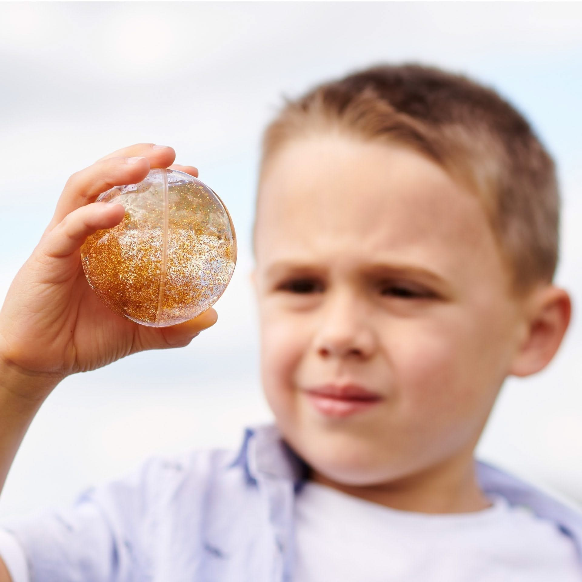
M 310 479 L 348 495 L 402 511 L 469 513 L 491 506 L 477 482 L 472 454 L 374 485 L 341 484 L 315 469 Z

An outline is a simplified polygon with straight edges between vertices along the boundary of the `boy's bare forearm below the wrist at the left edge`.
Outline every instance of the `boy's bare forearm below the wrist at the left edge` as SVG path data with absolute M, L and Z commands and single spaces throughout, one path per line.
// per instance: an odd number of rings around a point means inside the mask
M 58 382 L 26 374 L 0 358 L 0 492 L 34 415 Z M 23 396 L 30 393 L 36 396 Z

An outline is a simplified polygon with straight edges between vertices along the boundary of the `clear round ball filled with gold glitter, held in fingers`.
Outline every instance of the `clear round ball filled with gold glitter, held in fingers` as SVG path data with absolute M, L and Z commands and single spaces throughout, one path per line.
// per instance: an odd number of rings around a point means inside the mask
M 97 202 L 125 217 L 83 243 L 91 288 L 113 311 L 151 327 L 176 325 L 212 306 L 236 263 L 235 228 L 214 190 L 176 170 L 152 169 Z

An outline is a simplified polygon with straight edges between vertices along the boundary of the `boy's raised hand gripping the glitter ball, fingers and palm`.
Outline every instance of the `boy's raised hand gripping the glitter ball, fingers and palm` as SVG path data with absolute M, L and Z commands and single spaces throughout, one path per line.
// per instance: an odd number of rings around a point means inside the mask
M 186 346 L 217 321 L 212 308 L 166 328 L 126 320 L 95 296 L 81 266 L 79 249 L 87 236 L 115 226 L 125 214 L 122 205 L 95 203 L 95 198 L 113 186 L 140 182 L 150 168 L 198 176 L 193 166 L 171 165 L 174 159 L 171 147 L 135 144 L 70 176 L 51 222 L 0 310 L 0 365 L 5 370 L 55 384 L 141 350 Z

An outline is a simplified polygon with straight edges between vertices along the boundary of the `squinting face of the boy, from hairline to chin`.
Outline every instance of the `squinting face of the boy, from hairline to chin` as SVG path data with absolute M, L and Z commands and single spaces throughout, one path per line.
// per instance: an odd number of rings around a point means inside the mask
M 409 149 L 322 134 L 271 160 L 255 243 L 262 382 L 299 455 L 350 485 L 469 459 L 519 319 L 477 198 Z M 306 392 L 326 384 L 380 399 L 329 416 Z

